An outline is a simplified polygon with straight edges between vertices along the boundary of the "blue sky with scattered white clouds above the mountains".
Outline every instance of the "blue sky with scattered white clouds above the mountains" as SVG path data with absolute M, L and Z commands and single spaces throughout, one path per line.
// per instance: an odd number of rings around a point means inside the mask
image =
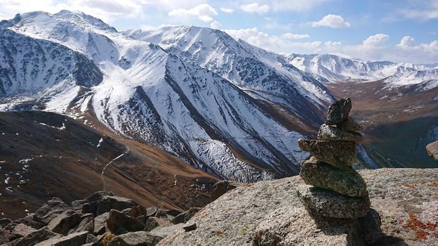
M 438 0 L 0 0 L 0 18 L 61 9 L 118 30 L 196 25 L 277 53 L 438 63 Z

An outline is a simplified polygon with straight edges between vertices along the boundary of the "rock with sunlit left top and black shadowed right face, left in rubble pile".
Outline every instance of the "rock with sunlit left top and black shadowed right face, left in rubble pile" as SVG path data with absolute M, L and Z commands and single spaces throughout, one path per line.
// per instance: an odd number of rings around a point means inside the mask
M 52 219 L 47 227 L 54 233 L 67 235 L 68 231 L 77 226 L 80 221 L 80 214 L 77 214 L 73 209 L 68 209 Z

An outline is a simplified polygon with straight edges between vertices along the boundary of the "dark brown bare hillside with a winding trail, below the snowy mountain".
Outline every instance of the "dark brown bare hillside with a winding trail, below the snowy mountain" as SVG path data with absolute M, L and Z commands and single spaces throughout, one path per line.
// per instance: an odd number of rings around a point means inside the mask
M 210 202 L 217 178 L 94 126 L 52 112 L 0 112 L 0 216 L 16 219 L 54 196 L 71 202 L 105 189 L 144 206 Z

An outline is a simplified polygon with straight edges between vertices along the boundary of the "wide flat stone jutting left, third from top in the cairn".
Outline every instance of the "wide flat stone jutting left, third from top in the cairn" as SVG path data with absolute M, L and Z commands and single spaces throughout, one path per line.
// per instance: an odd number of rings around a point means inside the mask
M 334 167 L 351 167 L 356 162 L 356 144 L 349 141 L 299 139 L 299 148 Z

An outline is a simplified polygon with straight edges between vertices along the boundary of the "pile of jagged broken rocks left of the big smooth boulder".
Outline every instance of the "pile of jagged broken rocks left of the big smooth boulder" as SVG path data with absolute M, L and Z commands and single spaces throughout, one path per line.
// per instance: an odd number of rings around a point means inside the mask
M 200 209 L 145 208 L 108 192 L 73 201 L 71 207 L 52 198 L 23 219 L 1 219 L 0 245 L 156 245 L 168 234 L 192 226 L 184 223 Z

